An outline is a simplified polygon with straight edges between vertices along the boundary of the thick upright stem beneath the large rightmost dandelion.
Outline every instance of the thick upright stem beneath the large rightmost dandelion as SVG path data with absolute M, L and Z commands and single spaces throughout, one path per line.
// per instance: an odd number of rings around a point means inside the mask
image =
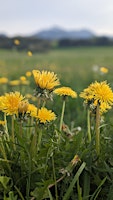
M 100 154 L 100 111 L 99 111 L 99 103 L 97 104 L 96 108 L 96 153 L 99 156 Z

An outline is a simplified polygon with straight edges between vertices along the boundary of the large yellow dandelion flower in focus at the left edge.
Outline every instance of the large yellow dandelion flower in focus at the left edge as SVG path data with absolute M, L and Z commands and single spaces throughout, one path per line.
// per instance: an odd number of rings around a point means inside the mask
M 2 96 L 1 110 L 7 115 L 18 114 L 19 103 L 24 99 L 20 92 L 10 92 Z

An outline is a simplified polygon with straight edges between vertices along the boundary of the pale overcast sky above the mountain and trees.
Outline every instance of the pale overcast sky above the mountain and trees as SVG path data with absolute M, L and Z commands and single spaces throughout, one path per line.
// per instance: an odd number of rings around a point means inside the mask
M 0 0 L 0 33 L 29 35 L 52 26 L 113 35 L 113 0 Z

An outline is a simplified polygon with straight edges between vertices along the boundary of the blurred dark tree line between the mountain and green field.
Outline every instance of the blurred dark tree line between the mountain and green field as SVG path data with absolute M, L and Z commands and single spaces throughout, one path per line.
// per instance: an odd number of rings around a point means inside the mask
M 18 41 L 18 43 L 15 43 L 15 40 Z M 32 52 L 47 52 L 55 47 L 68 48 L 80 46 L 113 46 L 113 38 L 101 36 L 91 39 L 61 39 L 56 41 L 56 43 L 57 45 L 54 46 L 54 41 L 48 41 L 34 37 L 9 38 L 0 36 L 1 49 L 30 50 Z

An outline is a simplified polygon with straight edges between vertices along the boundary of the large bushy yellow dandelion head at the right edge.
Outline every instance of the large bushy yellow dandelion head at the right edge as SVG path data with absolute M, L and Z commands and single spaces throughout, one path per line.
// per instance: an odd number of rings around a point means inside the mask
M 86 104 L 94 107 L 99 103 L 102 112 L 106 112 L 113 105 L 113 92 L 106 81 L 90 84 L 81 92 L 80 97 L 85 99 Z

